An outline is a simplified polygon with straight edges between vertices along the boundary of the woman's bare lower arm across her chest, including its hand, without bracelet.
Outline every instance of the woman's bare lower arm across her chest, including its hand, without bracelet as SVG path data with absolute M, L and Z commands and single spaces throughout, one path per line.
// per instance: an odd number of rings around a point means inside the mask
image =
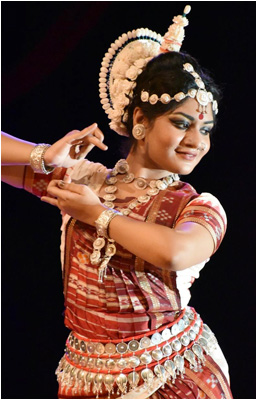
M 74 183 L 58 187 L 52 181 L 48 193 L 55 199 L 42 198 L 57 205 L 74 218 L 93 225 L 106 209 L 86 186 Z M 171 229 L 154 223 L 116 216 L 109 224 L 109 236 L 131 253 L 166 270 L 179 271 L 208 259 L 214 252 L 210 232 L 198 223 L 181 222 Z

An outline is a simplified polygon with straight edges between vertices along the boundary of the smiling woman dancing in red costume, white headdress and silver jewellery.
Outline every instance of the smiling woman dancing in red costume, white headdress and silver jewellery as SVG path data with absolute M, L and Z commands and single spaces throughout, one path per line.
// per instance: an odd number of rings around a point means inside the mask
M 226 230 L 219 201 L 180 178 L 209 151 L 219 100 L 180 52 L 189 11 L 164 38 L 128 32 L 104 57 L 101 103 L 111 129 L 132 139 L 126 160 L 113 169 L 78 162 L 89 150 L 83 135 L 71 166 L 53 160 L 51 147 L 31 151 L 24 188 L 63 214 L 71 333 L 56 371 L 59 398 L 232 398 L 217 340 L 187 306 Z M 56 165 L 69 168 L 51 172 Z

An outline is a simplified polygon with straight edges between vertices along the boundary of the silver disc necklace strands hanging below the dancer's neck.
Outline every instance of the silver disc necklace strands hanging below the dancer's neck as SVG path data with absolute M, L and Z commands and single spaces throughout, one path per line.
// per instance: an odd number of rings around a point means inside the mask
M 125 175 L 122 179 L 120 179 L 120 182 L 124 182 L 127 184 L 133 182 L 135 187 L 141 190 L 144 190 L 147 187 L 149 187 L 145 195 L 135 198 L 132 201 L 132 203 L 129 204 L 128 207 L 126 208 L 117 207 L 117 209 L 120 210 L 120 212 L 123 215 L 129 215 L 132 212 L 132 210 L 139 204 L 147 203 L 152 198 L 152 196 L 156 196 L 160 190 L 167 189 L 167 187 L 170 186 L 174 181 L 179 180 L 179 176 L 177 174 L 170 174 L 162 179 L 152 179 L 149 182 L 147 182 L 145 178 L 142 177 L 135 178 L 134 174 L 132 172 L 129 172 L 129 165 L 126 160 L 124 159 L 119 160 L 115 164 L 115 167 L 111 170 L 110 174 L 105 179 L 105 183 L 108 186 L 104 189 L 106 194 L 103 196 L 104 199 L 103 204 L 108 208 L 115 207 L 114 205 L 114 201 L 116 200 L 115 193 L 118 190 L 115 184 L 118 182 L 117 175 L 119 174 Z

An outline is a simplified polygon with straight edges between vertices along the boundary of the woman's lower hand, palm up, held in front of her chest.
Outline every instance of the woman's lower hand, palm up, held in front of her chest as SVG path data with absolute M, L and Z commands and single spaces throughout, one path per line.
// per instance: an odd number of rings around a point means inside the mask
M 86 185 L 52 180 L 47 192 L 49 196 L 42 196 L 42 201 L 57 206 L 62 212 L 89 225 L 94 225 L 105 210 L 99 197 Z

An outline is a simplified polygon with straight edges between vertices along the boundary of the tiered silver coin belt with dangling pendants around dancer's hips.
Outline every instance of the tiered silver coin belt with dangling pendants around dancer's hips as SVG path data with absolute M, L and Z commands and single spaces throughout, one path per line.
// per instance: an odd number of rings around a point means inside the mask
M 98 398 L 103 390 L 124 395 L 139 384 L 151 389 L 157 376 L 164 384 L 183 378 L 185 360 L 195 372 L 217 340 L 199 314 L 187 307 L 173 323 L 149 334 L 123 340 L 97 340 L 71 332 L 63 358 L 56 370 L 61 393 L 92 392 Z M 168 379 L 167 379 L 168 376 Z

